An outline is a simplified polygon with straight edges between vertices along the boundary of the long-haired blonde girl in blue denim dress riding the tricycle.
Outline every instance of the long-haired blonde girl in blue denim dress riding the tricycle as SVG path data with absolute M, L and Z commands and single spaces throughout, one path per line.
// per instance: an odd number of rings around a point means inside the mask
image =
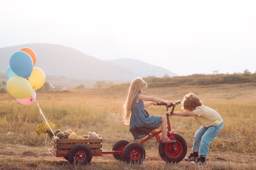
M 156 102 L 167 103 L 167 106 L 170 105 L 170 102 L 157 97 L 144 96 L 143 93 L 145 93 L 147 87 L 147 83 L 140 77 L 136 77 L 132 81 L 126 102 L 124 104 L 124 123 L 127 125 L 130 124 L 130 131 L 134 137 L 134 140 L 143 138 L 147 136 L 148 133 L 156 133 L 156 129 L 161 125 L 162 132 L 164 132 L 162 133 L 162 142 L 175 142 L 167 137 L 166 118 L 163 116 L 149 117 L 148 112 L 144 109 L 152 104 L 156 106 Z M 144 104 L 142 100 L 151 102 Z M 159 137 L 160 135 L 157 135 L 156 139 Z

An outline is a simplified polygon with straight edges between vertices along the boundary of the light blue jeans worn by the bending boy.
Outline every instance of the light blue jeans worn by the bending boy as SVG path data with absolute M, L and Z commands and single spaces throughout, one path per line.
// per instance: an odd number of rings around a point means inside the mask
M 210 142 L 220 133 L 223 128 L 223 122 L 216 126 L 201 126 L 195 133 L 193 141 L 193 152 L 200 152 L 200 156 L 206 157 Z

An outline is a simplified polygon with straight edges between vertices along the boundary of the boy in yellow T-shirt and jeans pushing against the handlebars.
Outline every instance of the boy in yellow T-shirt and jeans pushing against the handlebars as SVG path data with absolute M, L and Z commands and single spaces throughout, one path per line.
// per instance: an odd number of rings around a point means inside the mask
M 189 93 L 184 96 L 183 109 L 177 112 L 167 111 L 170 116 L 193 116 L 195 120 L 202 126 L 196 131 L 193 141 L 193 153 L 185 160 L 191 160 L 191 164 L 206 164 L 205 157 L 208 154 L 209 143 L 220 133 L 223 128 L 223 120 L 220 114 L 202 105 L 199 97 L 194 93 Z M 198 155 L 198 152 L 200 154 Z

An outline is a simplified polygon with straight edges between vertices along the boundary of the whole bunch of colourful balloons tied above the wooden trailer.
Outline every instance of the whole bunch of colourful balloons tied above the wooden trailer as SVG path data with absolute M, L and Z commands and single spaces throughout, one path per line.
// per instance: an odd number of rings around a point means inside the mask
M 36 100 L 36 89 L 44 85 L 45 74 L 42 69 L 34 67 L 36 54 L 30 48 L 21 48 L 12 54 L 10 66 L 6 70 L 8 78 L 7 91 L 20 104 L 30 105 Z

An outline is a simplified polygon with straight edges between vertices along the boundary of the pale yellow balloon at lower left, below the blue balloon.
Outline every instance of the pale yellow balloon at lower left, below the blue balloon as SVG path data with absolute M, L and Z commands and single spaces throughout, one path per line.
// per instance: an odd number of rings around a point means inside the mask
M 19 76 L 10 78 L 6 84 L 7 91 L 15 98 L 26 99 L 32 95 L 32 89 L 27 79 Z

